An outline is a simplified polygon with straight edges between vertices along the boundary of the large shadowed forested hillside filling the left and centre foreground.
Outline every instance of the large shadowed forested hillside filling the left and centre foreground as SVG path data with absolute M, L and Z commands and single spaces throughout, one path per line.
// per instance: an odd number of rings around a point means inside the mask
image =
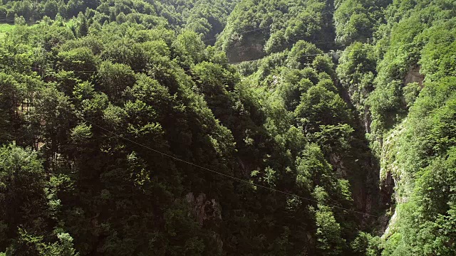
M 331 58 L 297 41 L 247 77 L 180 3 L 99 4 L 1 45 L 0 251 L 354 253 L 378 169 Z

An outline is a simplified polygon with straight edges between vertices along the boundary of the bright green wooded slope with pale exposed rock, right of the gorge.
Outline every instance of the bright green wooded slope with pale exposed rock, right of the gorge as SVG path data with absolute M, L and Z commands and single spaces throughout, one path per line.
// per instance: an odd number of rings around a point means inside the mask
M 455 3 L 394 1 L 375 45 L 346 49 L 338 75 L 395 185 L 382 255 L 452 255 Z M 355 53 L 354 51 L 357 50 Z M 394 183 L 393 183 L 394 182 Z

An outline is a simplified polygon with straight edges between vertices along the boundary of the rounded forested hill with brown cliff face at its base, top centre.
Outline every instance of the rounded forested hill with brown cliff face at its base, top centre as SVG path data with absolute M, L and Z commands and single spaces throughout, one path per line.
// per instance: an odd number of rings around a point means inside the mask
M 231 62 L 255 60 L 299 40 L 333 48 L 333 1 L 243 0 L 229 16 L 219 46 Z

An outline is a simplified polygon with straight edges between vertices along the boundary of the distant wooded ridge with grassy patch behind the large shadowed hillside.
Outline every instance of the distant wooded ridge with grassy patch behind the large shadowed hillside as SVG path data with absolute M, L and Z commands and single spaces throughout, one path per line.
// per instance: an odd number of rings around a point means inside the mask
M 100 24 L 106 21 L 130 21 L 151 26 L 182 28 L 202 35 L 208 43 L 215 43 L 215 36 L 222 32 L 227 17 L 239 0 L 228 1 L 144 1 L 144 0 L 38 0 L 3 1 L 0 22 L 12 22 L 15 16 L 26 21 L 49 18 L 73 18 L 80 13 L 88 21 Z

